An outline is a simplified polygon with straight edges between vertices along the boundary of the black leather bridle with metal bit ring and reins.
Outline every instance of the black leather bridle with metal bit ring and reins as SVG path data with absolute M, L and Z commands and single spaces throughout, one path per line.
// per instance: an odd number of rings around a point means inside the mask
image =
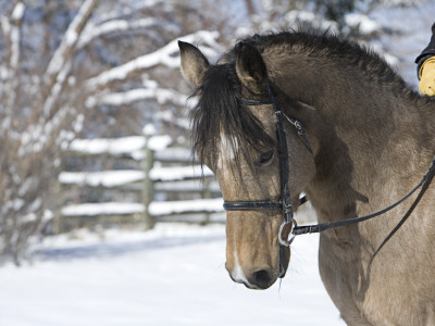
M 291 202 L 290 202 L 290 190 L 288 187 L 288 178 L 289 178 L 289 165 L 288 165 L 288 150 L 287 150 L 287 140 L 286 140 L 286 134 L 283 127 L 283 116 L 286 118 L 286 121 L 294 126 L 300 139 L 307 147 L 308 151 L 313 154 L 312 149 L 310 147 L 310 143 L 308 141 L 308 138 L 306 136 L 303 125 L 295 120 L 286 115 L 278 105 L 277 97 L 275 92 L 272 89 L 271 84 L 268 82 L 268 90 L 271 96 L 271 99 L 265 99 L 265 100 L 245 100 L 246 105 L 262 105 L 262 104 L 272 104 L 274 110 L 275 110 L 275 115 L 276 115 L 276 130 L 278 134 L 278 154 L 279 154 L 279 168 L 281 168 L 281 187 L 282 187 L 282 199 L 279 202 L 274 202 L 274 201 L 225 201 L 224 202 L 224 209 L 226 211 L 249 211 L 249 210 L 278 210 L 283 212 L 283 218 L 284 222 L 282 223 L 279 227 L 279 233 L 278 233 L 278 241 L 282 246 L 284 247 L 289 247 L 295 239 L 296 236 L 299 235 L 304 235 L 304 234 L 314 234 L 314 233 L 322 233 L 324 230 L 331 229 L 331 228 L 336 228 L 336 227 L 341 227 L 341 226 L 347 226 L 347 225 L 352 225 L 357 223 L 361 223 L 371 218 L 374 218 L 376 216 L 380 216 L 382 214 L 385 214 L 386 212 L 393 210 L 400 203 L 402 203 L 405 200 L 407 200 L 410 196 L 412 196 L 419 188 L 423 186 L 421 191 L 419 192 L 419 196 L 412 203 L 411 208 L 407 212 L 407 214 L 401 218 L 397 227 L 393 230 L 393 233 L 384 240 L 380 249 L 386 243 L 386 241 L 389 240 L 389 238 L 398 230 L 398 228 L 405 223 L 405 221 L 411 215 L 413 209 L 418 205 L 420 202 L 421 198 L 423 197 L 424 192 L 427 190 L 432 179 L 435 176 L 435 158 L 433 159 L 431 166 L 428 167 L 426 174 L 422 177 L 420 183 L 412 188 L 411 191 L 409 191 L 407 195 L 405 195 L 401 199 L 396 201 L 395 203 L 390 204 L 389 206 L 380 210 L 377 212 L 374 212 L 372 214 L 361 216 L 361 217 L 355 217 L 346 221 L 338 221 L 338 222 L 333 222 L 333 223 L 323 223 L 323 224 L 313 224 L 313 225 L 307 225 L 307 226 L 298 226 L 295 218 L 294 218 L 294 211 L 291 208 Z M 300 203 L 304 203 L 307 201 L 306 197 L 300 198 Z M 290 238 L 289 239 L 283 239 L 282 234 L 284 230 L 284 227 L 286 225 L 290 224 L 291 225 L 291 230 L 290 230 Z

